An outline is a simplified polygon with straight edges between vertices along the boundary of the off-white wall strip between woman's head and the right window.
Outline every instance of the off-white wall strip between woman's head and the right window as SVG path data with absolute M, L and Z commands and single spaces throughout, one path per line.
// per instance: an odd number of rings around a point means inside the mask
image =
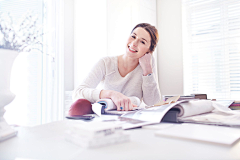
M 158 77 L 162 95 L 183 94 L 181 0 L 157 0 Z

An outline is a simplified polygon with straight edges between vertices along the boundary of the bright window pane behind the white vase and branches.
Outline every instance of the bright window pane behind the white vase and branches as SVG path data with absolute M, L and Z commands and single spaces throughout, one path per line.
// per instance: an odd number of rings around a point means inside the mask
M 42 0 L 0 1 L 0 12 L 9 13 L 17 25 L 29 15 L 38 16 L 36 26 L 42 25 Z M 26 24 L 26 23 L 25 23 Z M 5 107 L 4 117 L 9 124 L 33 126 L 41 124 L 42 53 L 38 50 L 21 52 L 11 72 L 11 91 L 15 99 Z

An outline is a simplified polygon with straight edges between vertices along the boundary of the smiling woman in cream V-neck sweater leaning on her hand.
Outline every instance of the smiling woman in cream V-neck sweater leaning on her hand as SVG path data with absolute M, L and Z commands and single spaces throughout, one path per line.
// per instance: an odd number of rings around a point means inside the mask
M 143 100 L 147 105 L 160 101 L 156 65 L 152 53 L 158 42 L 158 32 L 147 23 L 136 25 L 120 56 L 104 57 L 75 89 L 73 99 L 85 98 L 91 103 L 109 98 L 117 110 L 129 111 Z M 97 89 L 102 83 L 103 89 Z

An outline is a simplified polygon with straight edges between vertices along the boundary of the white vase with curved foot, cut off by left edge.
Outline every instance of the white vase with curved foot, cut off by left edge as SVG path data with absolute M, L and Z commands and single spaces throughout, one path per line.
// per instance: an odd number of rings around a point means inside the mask
M 8 49 L 0 49 L 0 141 L 16 135 L 16 131 L 11 129 L 6 123 L 3 115 L 4 106 L 9 104 L 15 98 L 15 94 L 10 91 L 10 78 L 12 65 L 18 52 Z

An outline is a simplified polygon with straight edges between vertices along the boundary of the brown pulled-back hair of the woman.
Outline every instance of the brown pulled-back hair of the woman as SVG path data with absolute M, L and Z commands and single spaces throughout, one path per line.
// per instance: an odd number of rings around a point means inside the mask
M 144 28 L 150 34 L 150 36 L 151 36 L 151 46 L 150 46 L 149 50 L 151 52 L 153 52 L 154 49 L 157 46 L 157 42 L 158 42 L 158 38 L 159 38 L 157 29 L 154 26 L 152 26 L 151 24 L 140 23 L 133 28 L 131 33 L 133 33 L 133 31 L 138 27 Z

